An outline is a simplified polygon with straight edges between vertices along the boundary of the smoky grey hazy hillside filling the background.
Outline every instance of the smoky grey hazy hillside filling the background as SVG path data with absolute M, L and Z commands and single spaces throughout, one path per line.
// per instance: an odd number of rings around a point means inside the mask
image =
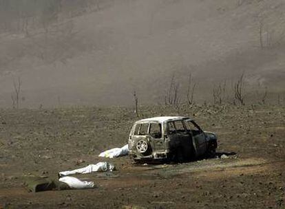
M 197 102 L 244 72 L 249 98 L 285 93 L 283 0 L 0 0 L 0 106 Z M 258 99 L 258 98 L 257 98 Z

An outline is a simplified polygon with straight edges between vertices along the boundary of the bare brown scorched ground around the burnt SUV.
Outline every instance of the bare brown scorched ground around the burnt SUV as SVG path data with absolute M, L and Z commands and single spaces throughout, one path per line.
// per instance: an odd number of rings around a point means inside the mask
M 131 164 L 97 157 L 127 143 L 133 109 L 74 107 L 0 111 L 0 208 L 285 208 L 285 108 L 140 107 L 144 118 L 190 115 L 218 134 L 228 159 Z M 25 178 L 56 177 L 107 161 L 112 173 L 79 175 L 96 188 L 28 192 Z

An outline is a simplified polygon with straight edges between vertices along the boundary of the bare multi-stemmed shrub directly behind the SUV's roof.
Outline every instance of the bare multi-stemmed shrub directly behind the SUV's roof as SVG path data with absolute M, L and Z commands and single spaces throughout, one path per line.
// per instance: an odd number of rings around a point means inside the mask
M 165 94 L 165 105 L 177 105 L 179 103 L 179 83 L 176 81 L 174 74 L 171 76 L 169 89 Z

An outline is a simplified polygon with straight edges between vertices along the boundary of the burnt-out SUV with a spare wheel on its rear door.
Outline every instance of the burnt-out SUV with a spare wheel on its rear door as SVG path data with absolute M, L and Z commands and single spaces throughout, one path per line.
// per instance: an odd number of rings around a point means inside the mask
M 183 162 L 202 155 L 212 155 L 215 148 L 215 133 L 202 131 L 196 122 L 187 117 L 138 120 L 129 133 L 129 156 L 135 162 Z

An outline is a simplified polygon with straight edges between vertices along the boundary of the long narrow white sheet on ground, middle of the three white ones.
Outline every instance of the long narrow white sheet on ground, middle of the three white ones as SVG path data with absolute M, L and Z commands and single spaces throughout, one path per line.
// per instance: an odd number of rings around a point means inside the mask
M 84 168 L 78 168 L 75 170 L 66 170 L 59 172 L 59 176 L 63 177 L 66 175 L 73 175 L 79 173 L 92 173 L 98 171 L 113 171 L 115 170 L 115 166 L 113 164 L 109 164 L 108 162 L 98 162 L 98 164 L 90 164 Z

